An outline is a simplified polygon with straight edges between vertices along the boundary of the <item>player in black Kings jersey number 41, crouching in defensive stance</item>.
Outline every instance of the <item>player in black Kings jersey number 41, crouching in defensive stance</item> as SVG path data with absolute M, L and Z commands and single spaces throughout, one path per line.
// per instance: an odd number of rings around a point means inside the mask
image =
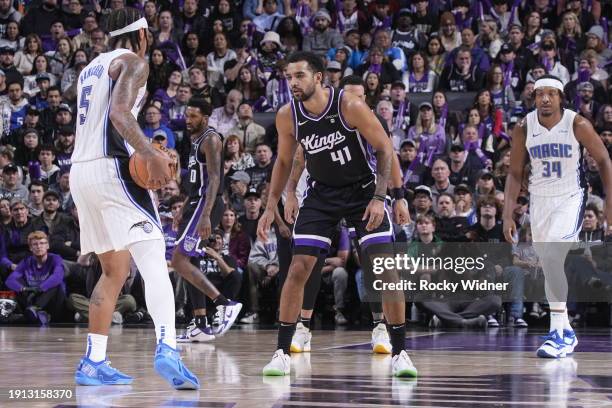
M 274 221 L 280 195 L 287 183 L 299 142 L 309 173 L 306 198 L 294 226 L 294 255 L 280 301 L 278 350 L 263 369 L 264 375 L 290 372 L 289 350 L 302 306 L 304 284 L 318 256 L 326 252 L 332 229 L 344 218 L 355 228 L 362 248 L 392 242 L 393 229 L 385 208 L 393 147 L 369 107 L 342 91 L 324 88 L 323 62 L 310 52 L 288 59 L 286 78 L 293 100 L 277 113 L 278 158 L 266 210 L 257 228 L 262 241 Z M 376 168 L 372 150 L 376 151 Z M 404 351 L 404 300 L 384 302 L 393 346 L 392 371 L 416 376 Z

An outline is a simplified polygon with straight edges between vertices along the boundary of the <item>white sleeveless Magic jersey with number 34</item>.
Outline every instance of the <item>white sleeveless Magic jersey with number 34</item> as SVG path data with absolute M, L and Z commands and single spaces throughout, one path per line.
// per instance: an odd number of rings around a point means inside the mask
M 548 130 L 538 121 L 537 111 L 527 114 L 530 194 L 561 196 L 586 188 L 582 145 L 574 136 L 575 117 L 576 112 L 564 109 L 561 121 Z

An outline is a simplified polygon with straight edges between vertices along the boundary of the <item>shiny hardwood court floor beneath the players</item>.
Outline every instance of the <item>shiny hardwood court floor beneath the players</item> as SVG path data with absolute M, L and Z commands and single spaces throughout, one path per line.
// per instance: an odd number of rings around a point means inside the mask
M 409 331 L 416 381 L 392 379 L 390 357 L 369 332 L 315 331 L 313 351 L 292 357 L 290 378 L 263 378 L 276 332 L 236 328 L 181 346 L 202 389 L 174 391 L 153 371 L 153 330 L 113 327 L 109 357 L 131 386 L 76 387 L 84 327 L 0 328 L 0 407 L 604 407 L 612 406 L 612 332 L 578 334 L 574 357 L 542 360 L 534 331 Z M 16 402 L 12 388 L 71 389 L 72 399 Z

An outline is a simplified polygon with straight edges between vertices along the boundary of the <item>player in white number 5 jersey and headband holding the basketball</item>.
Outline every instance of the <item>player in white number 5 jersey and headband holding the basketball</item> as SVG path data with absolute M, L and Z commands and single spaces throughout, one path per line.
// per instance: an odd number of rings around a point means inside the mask
M 81 248 L 102 264 L 89 305 L 86 355 L 75 373 L 79 385 L 130 384 L 132 378 L 111 367 L 106 343 L 117 296 L 134 259 L 145 282 L 147 309 L 155 323 L 155 370 L 176 389 L 198 389 L 199 381 L 176 351 L 174 296 L 165 261 L 159 215 L 150 191 L 137 186 L 129 158 L 147 160 L 149 185 L 171 178 L 169 157 L 152 147 L 140 130 L 140 110 L 149 74 L 144 59 L 147 22 L 137 10 L 108 16 L 110 47 L 81 71 L 70 187 L 79 211 Z

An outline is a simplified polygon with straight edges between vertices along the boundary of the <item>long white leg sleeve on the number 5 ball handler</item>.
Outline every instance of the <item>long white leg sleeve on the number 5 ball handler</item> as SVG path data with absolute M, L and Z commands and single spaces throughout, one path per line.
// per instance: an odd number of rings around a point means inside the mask
M 140 241 L 129 250 L 145 283 L 145 301 L 155 323 L 157 342 L 176 349 L 174 291 L 166 265 L 166 245 L 161 239 Z

